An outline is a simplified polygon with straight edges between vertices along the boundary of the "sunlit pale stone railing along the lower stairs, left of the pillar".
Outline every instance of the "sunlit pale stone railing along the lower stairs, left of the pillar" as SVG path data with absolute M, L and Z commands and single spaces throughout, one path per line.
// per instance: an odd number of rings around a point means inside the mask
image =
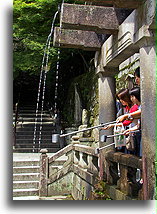
M 51 193 L 48 187 L 51 184 L 60 180 L 68 173 L 73 173 L 70 182 L 73 185 L 71 192 L 74 199 L 83 200 L 83 198 L 88 198 L 91 190 L 93 190 L 94 184 L 97 182 L 99 174 L 98 155 L 95 154 L 94 148 L 76 144 L 77 142 L 76 137 L 73 144 L 61 149 L 50 158 L 46 154 L 46 149 L 41 150 L 40 197 L 50 195 Z M 67 158 L 64 164 L 56 169 L 54 163 L 62 156 L 66 156 Z

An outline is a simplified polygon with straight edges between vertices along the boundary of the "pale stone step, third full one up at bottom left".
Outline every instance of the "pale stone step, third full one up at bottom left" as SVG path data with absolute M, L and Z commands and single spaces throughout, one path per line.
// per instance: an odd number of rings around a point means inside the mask
M 38 181 L 39 173 L 16 173 L 13 174 L 13 181 Z

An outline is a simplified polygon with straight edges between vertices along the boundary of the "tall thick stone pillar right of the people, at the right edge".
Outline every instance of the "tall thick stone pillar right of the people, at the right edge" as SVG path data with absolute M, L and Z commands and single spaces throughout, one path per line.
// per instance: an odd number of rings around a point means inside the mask
M 155 42 L 140 48 L 142 158 L 144 199 L 155 199 L 155 124 L 156 124 Z

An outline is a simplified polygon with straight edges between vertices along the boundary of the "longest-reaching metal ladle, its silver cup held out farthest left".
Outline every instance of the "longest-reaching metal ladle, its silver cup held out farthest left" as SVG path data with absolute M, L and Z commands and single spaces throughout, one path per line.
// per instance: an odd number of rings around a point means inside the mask
M 61 135 L 60 134 L 52 134 L 52 143 L 60 142 L 60 138 L 61 137 L 66 137 L 66 136 L 74 135 L 74 134 L 77 134 L 77 133 L 80 133 L 80 132 L 85 132 L 85 131 L 88 131 L 88 130 L 91 130 L 91 129 L 100 128 L 100 127 L 107 126 L 107 125 L 113 124 L 113 123 L 116 123 L 116 121 L 103 123 L 103 124 L 100 124 L 98 126 L 92 126 L 92 127 L 86 128 L 86 129 L 81 129 L 81 130 L 70 132 L 70 133 L 67 133 L 67 134 L 61 134 Z

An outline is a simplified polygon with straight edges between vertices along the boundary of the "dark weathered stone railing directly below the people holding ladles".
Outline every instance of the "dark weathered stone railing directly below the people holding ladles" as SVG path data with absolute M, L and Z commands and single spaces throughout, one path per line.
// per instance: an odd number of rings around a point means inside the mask
M 142 200 L 142 184 L 136 181 L 137 169 L 142 174 L 142 160 L 134 155 L 121 152 L 108 152 L 105 158 L 107 161 L 107 187 L 110 197 L 113 200 L 130 200 L 133 198 Z

